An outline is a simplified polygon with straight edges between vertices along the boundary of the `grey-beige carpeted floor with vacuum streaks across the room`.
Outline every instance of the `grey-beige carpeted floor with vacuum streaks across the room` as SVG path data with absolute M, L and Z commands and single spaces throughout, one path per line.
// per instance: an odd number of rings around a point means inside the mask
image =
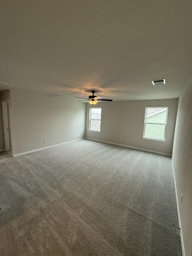
M 1 255 L 182 255 L 170 157 L 83 139 L 0 161 Z

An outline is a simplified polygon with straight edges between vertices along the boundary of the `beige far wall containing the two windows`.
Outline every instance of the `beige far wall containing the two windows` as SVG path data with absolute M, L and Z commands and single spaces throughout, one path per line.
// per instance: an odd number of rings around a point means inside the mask
M 86 137 L 167 154 L 172 153 L 178 99 L 100 102 L 95 106 L 101 107 L 100 133 L 89 131 L 91 105 L 88 103 L 86 105 Z M 145 107 L 169 107 L 165 142 L 142 139 Z

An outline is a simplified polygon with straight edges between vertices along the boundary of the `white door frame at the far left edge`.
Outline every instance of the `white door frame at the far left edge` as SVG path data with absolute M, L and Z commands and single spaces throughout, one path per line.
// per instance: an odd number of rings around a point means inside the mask
M 8 120 L 8 109 L 7 109 L 7 102 L 9 103 L 9 118 Z M 10 101 L 9 100 L 2 100 L 2 114 L 3 114 L 3 131 L 4 131 L 4 140 L 5 140 L 5 151 L 10 150 L 10 141 L 12 146 L 12 132 L 10 131 L 11 138 L 9 138 L 9 122 L 10 122 L 10 129 L 11 129 L 11 112 L 10 112 Z

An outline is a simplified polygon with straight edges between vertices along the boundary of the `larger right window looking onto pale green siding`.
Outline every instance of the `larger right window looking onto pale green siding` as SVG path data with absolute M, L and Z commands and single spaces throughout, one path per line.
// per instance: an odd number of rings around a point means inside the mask
M 143 139 L 165 141 L 168 107 L 145 108 Z

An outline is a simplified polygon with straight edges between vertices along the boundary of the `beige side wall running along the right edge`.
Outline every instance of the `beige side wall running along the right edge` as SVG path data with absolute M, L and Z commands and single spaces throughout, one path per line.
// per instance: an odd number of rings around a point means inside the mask
M 192 255 L 192 84 L 179 98 L 173 166 L 185 255 Z M 183 195 L 181 203 L 181 193 Z

